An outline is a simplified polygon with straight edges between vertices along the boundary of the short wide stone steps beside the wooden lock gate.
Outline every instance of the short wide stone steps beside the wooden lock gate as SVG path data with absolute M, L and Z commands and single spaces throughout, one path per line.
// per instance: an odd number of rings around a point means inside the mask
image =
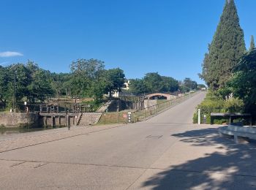
M 95 125 L 98 123 L 101 116 L 102 113 L 82 113 L 78 121 L 78 126 Z

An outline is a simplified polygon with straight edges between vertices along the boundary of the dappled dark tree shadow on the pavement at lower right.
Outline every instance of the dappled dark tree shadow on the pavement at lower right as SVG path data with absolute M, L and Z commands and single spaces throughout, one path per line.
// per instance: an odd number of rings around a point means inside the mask
M 143 183 L 151 189 L 256 189 L 256 144 L 235 144 L 217 129 L 173 134 L 192 146 L 215 147 L 212 153 L 171 166 Z M 173 153 L 174 154 L 174 153 Z M 189 152 L 188 152 L 189 154 Z

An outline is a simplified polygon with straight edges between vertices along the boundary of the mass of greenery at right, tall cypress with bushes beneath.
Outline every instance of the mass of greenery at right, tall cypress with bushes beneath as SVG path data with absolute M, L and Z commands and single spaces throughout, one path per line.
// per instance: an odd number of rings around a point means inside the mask
M 244 112 L 256 116 L 256 50 L 253 36 L 249 51 L 245 53 L 244 32 L 239 25 L 235 2 L 226 0 L 200 75 L 212 91 L 198 106 L 207 115 L 208 123 L 210 113 L 214 112 Z

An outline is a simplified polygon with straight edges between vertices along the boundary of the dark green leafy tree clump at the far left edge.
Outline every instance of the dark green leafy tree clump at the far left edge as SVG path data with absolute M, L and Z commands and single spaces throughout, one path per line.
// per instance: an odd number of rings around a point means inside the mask
M 50 72 L 40 69 L 37 64 L 12 64 L 0 67 L 0 104 L 1 107 L 13 107 L 15 102 L 43 101 L 52 96 Z

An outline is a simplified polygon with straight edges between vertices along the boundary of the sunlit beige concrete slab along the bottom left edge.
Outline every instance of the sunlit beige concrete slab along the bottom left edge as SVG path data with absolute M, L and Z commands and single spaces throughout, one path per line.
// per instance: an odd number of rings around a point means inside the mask
M 4 175 L 1 173 L 1 189 L 125 189 L 144 171 L 127 167 L 58 163 L 38 167 L 39 164 L 25 162 L 11 167 Z

